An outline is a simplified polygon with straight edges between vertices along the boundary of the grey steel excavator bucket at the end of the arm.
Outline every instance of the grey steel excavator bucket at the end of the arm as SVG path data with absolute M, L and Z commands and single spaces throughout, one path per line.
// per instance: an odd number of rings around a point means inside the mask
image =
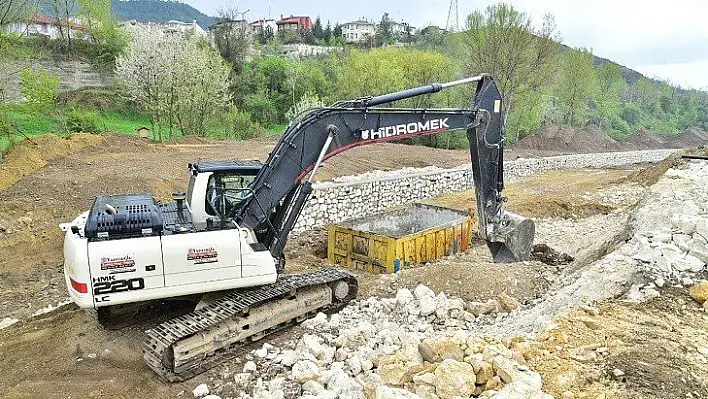
M 536 225 L 531 219 L 505 212 L 497 230 L 487 240 L 494 262 L 511 263 L 529 259 Z

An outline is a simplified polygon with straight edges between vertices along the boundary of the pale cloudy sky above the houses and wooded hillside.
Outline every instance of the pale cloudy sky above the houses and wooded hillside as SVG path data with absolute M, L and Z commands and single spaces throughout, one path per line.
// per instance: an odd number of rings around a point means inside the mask
M 210 15 L 226 0 L 183 0 Z M 494 0 L 458 0 L 460 25 Z M 708 89 L 708 1 L 506 0 L 534 22 L 556 19 L 564 44 L 586 47 L 600 57 L 683 87 Z M 232 0 L 248 20 L 283 15 L 320 15 L 323 22 L 359 18 L 378 21 L 384 12 L 416 27 L 445 27 L 450 0 Z

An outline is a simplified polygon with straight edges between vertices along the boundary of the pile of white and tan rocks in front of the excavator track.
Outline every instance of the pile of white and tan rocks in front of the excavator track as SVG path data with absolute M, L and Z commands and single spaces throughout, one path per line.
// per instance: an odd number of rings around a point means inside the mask
M 503 310 L 500 302 L 465 303 L 423 285 L 355 301 L 304 322 L 308 333 L 293 348 L 264 344 L 252 352 L 233 384 L 242 398 L 264 399 L 550 398 L 526 364 L 528 343 L 471 332 L 477 317 L 468 309 Z M 274 368 L 274 376 L 264 372 Z

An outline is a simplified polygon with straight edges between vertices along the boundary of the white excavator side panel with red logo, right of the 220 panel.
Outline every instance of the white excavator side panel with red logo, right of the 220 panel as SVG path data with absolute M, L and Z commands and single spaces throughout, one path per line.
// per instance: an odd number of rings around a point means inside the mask
M 165 286 L 241 278 L 238 229 L 162 236 Z

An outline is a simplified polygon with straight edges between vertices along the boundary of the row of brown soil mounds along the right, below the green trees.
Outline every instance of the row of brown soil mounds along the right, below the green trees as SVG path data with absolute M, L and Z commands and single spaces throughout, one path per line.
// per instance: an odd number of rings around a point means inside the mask
M 642 129 L 627 140 L 617 141 L 597 126 L 580 129 L 570 126 L 543 126 L 536 133 L 519 140 L 511 149 L 520 153 L 542 152 L 553 155 L 689 148 L 706 144 L 708 133 L 697 128 L 686 129 L 678 136 L 665 136 Z

